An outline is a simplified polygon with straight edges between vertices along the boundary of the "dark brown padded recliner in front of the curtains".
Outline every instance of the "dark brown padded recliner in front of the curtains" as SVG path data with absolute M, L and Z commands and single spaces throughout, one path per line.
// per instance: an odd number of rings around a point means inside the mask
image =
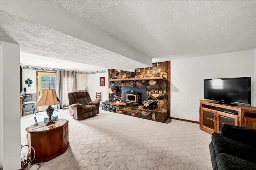
M 99 113 L 99 101 L 92 101 L 88 92 L 68 93 L 69 114 L 75 119 L 85 119 Z

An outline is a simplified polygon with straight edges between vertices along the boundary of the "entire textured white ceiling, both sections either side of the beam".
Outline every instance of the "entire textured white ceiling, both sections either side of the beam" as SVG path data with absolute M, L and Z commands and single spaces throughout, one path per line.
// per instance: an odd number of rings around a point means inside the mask
M 153 62 L 256 49 L 256 0 L 50 1 L 152 57 Z M 1 7 L 0 40 L 20 44 L 21 63 L 33 61 L 26 65 L 38 66 L 45 56 L 45 61 L 52 57 L 59 65 L 66 61 L 92 65 L 84 65 L 81 71 L 141 67 L 141 63 Z M 38 56 L 40 63 L 36 63 Z

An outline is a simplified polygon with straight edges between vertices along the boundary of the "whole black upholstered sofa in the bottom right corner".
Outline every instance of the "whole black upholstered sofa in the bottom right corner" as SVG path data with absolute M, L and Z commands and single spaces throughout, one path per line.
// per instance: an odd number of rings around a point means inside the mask
M 209 146 L 213 170 L 256 170 L 256 130 L 222 125 L 220 132 Z

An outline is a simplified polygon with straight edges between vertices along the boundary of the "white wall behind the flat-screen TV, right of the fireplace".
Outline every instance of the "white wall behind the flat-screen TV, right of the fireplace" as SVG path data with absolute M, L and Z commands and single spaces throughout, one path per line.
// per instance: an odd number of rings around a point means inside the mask
M 171 61 L 171 117 L 199 121 L 204 79 L 251 77 L 254 92 L 254 50 Z M 256 106 L 252 97 L 252 106 Z

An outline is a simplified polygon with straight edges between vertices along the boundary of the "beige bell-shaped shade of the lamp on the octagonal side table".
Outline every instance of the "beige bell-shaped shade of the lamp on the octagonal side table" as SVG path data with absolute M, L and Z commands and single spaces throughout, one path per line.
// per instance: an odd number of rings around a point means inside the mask
M 42 98 L 37 102 L 37 106 L 51 106 L 61 104 L 54 89 L 44 89 Z

